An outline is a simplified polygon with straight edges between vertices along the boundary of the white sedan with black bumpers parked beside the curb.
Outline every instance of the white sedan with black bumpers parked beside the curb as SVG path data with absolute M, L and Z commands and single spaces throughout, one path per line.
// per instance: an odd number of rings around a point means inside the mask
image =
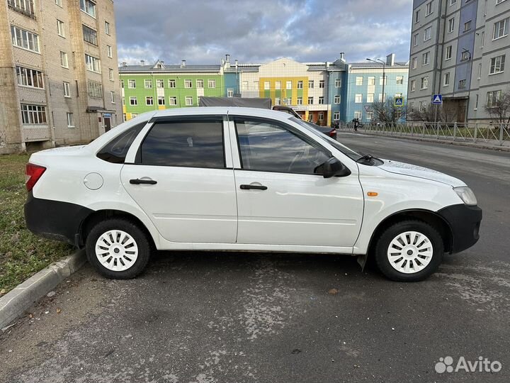
M 118 279 L 155 248 L 368 254 L 386 277 L 418 281 L 474 245 L 482 219 L 459 179 L 263 109 L 144 113 L 89 145 L 35 152 L 26 174 L 28 228 Z

